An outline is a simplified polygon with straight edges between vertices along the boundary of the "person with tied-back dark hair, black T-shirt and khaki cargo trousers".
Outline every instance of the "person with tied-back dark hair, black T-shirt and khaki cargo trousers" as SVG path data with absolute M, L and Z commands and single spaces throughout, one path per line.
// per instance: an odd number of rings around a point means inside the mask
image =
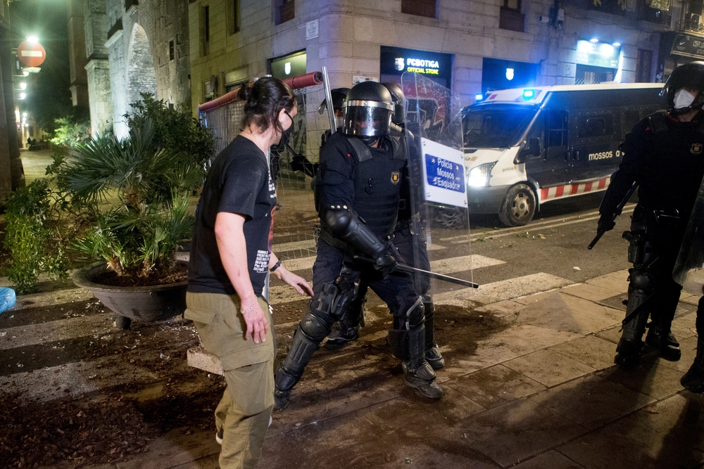
M 293 91 L 265 77 L 239 90 L 243 130 L 215 158 L 196 209 L 184 316 L 218 356 L 227 389 L 215 409 L 220 468 L 253 468 L 274 406 L 275 335 L 264 299 L 267 271 L 305 295 L 313 290 L 271 252 L 276 209 L 267 152 L 291 127 Z

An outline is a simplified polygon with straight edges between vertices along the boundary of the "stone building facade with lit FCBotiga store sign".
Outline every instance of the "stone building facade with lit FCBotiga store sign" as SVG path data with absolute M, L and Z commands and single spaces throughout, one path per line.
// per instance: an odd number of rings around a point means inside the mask
M 332 86 L 422 70 L 463 103 L 507 87 L 653 82 L 672 68 L 662 44 L 682 10 L 677 0 L 196 0 L 193 108 L 266 73 L 322 66 Z

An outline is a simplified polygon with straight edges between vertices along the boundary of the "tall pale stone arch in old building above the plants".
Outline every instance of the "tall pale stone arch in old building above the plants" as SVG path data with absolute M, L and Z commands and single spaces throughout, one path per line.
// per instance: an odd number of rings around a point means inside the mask
M 156 94 L 156 71 L 144 27 L 134 23 L 127 53 L 127 105 L 142 99 L 140 93 Z

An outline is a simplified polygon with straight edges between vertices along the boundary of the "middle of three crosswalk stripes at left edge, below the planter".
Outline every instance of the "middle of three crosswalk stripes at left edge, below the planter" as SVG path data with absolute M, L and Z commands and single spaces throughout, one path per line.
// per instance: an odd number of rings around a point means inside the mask
M 115 314 L 94 314 L 2 330 L 0 350 L 113 332 Z

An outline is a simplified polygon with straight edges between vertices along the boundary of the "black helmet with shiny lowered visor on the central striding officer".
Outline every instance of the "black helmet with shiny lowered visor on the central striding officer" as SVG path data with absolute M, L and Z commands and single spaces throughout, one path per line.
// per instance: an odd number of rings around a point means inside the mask
M 394 104 L 391 93 L 381 83 L 361 82 L 347 94 L 342 133 L 356 136 L 369 144 L 389 134 Z

